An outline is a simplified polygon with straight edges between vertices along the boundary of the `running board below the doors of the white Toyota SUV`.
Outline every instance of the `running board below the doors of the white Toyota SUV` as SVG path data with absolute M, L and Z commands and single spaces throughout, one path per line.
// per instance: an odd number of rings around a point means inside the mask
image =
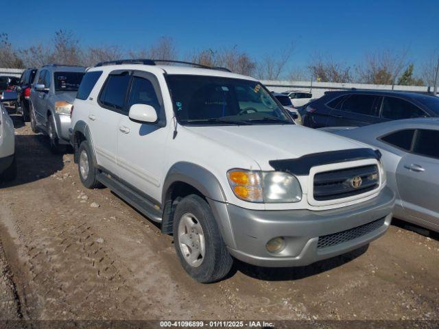
M 128 204 L 139 210 L 139 212 L 141 212 L 145 217 L 157 223 L 161 223 L 161 211 L 157 209 L 152 202 L 145 199 L 145 197 L 142 197 L 139 195 L 139 193 L 132 191 L 131 188 L 125 184 L 122 184 L 118 180 L 115 180 L 115 178 L 112 178 L 106 173 L 98 173 L 96 178 L 99 180 L 99 182 L 110 188 L 111 191 L 128 202 Z

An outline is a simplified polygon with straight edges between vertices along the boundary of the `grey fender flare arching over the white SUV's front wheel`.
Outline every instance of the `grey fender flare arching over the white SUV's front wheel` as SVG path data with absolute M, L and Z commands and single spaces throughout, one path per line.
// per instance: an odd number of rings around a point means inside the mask
M 172 185 L 178 182 L 193 186 L 206 197 L 224 242 L 229 247 L 234 246 L 232 226 L 226 209 L 227 199 L 221 184 L 213 173 L 191 162 L 177 162 L 167 173 L 162 194 L 162 204 L 164 206 L 162 232 L 166 234 L 172 232 L 172 221 L 176 206 L 171 199 Z

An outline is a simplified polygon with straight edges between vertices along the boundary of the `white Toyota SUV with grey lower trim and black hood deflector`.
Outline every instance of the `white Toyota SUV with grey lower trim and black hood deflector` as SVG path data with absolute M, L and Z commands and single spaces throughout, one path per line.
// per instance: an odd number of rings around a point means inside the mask
M 158 63 L 89 69 L 71 144 L 84 186 L 161 222 L 195 280 L 224 278 L 233 257 L 308 265 L 387 230 L 394 195 L 379 151 L 295 125 L 251 77 Z

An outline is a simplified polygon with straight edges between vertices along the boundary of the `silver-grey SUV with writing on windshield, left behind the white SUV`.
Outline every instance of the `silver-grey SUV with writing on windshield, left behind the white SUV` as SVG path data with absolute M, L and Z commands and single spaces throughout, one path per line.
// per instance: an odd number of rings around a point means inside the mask
M 33 132 L 49 136 L 54 153 L 63 152 L 69 145 L 70 112 L 85 69 L 50 64 L 36 72 L 30 92 L 30 124 Z

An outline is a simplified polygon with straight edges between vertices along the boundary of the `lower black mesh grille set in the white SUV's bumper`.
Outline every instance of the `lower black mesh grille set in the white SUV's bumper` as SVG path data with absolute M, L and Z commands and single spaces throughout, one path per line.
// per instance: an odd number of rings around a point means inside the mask
M 324 236 L 319 236 L 317 247 L 318 249 L 332 247 L 333 245 L 338 245 L 346 241 L 351 241 L 357 239 L 360 236 L 368 234 L 377 228 L 381 228 L 384 225 L 385 217 L 377 219 L 376 221 L 371 221 L 370 223 L 357 226 L 356 228 L 351 228 L 346 231 L 337 232 L 333 234 L 328 234 Z

